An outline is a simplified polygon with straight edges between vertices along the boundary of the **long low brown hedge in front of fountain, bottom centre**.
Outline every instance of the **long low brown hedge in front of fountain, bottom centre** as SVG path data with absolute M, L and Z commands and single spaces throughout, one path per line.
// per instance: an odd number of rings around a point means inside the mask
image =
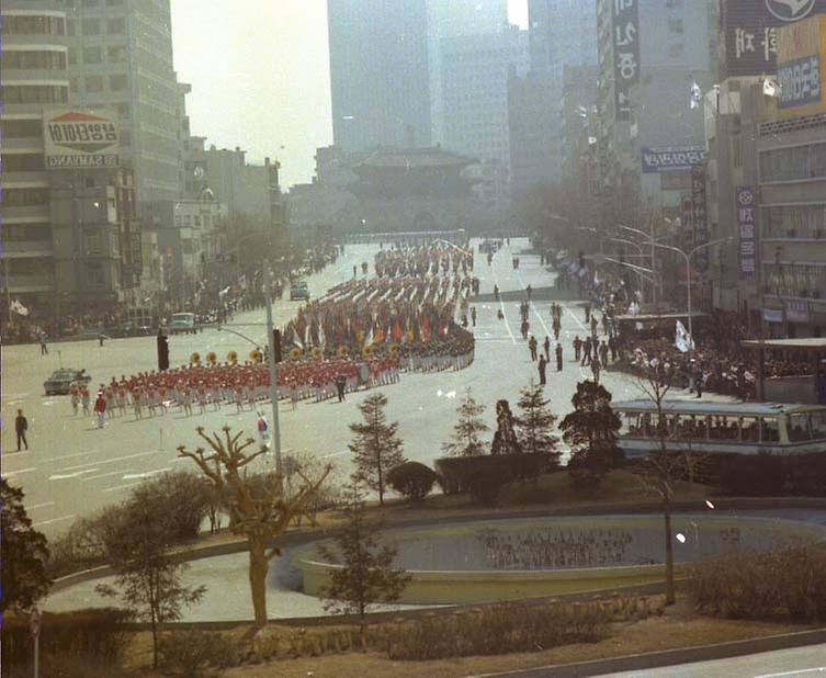
M 389 631 L 391 659 L 442 659 L 547 649 L 593 643 L 608 635 L 599 606 L 495 606 L 459 614 L 429 615 Z

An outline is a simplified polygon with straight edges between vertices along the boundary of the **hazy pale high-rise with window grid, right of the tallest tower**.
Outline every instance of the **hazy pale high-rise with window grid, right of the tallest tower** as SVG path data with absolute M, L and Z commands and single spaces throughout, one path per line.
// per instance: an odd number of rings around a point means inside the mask
M 528 70 L 528 32 L 510 26 L 441 41 L 442 125 L 446 148 L 508 163 L 508 76 Z

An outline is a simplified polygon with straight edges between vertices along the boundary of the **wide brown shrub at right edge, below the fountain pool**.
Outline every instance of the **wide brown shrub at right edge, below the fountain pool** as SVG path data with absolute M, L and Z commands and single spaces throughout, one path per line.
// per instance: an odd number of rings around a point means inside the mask
M 710 558 L 691 570 L 701 611 L 732 619 L 826 621 L 826 551 L 805 543 Z

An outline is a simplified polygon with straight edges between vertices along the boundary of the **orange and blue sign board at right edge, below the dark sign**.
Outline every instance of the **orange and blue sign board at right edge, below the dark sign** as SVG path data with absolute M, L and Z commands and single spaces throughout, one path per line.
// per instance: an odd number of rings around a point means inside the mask
M 815 14 L 778 31 L 778 113 L 780 117 L 826 112 L 826 14 Z

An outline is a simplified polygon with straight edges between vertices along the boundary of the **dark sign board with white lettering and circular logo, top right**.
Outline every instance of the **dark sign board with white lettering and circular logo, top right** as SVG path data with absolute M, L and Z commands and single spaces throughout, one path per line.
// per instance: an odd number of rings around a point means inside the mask
M 723 0 L 721 80 L 776 74 L 780 26 L 818 12 L 826 12 L 826 0 Z

